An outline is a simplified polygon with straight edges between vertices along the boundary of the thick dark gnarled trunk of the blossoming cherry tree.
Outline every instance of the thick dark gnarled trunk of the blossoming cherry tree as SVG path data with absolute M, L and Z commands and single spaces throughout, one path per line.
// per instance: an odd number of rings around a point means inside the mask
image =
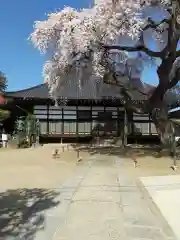
M 123 87 L 123 83 L 121 86 L 121 94 L 125 99 L 125 109 L 131 110 L 132 112 L 138 114 L 150 113 L 151 118 L 157 128 L 157 132 L 162 143 L 162 148 L 170 149 L 170 152 L 173 152 L 173 155 L 175 155 L 175 132 L 173 123 L 168 120 L 168 108 L 164 102 L 164 96 L 170 86 L 169 75 L 174 61 L 174 54 L 169 54 L 162 60 L 162 63 L 157 70 L 157 74 L 159 76 L 159 85 L 155 88 L 151 96 L 147 96 L 147 101 L 144 104 L 139 104 L 139 106 L 132 105 L 131 95 L 129 94 L 131 89 L 128 89 L 125 86 Z M 118 79 L 115 80 L 116 81 L 114 81 L 114 84 L 116 85 L 118 83 Z

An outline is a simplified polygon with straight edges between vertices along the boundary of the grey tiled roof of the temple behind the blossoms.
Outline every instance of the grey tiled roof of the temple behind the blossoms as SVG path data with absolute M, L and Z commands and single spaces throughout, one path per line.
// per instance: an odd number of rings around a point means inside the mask
M 142 86 L 141 82 L 136 80 L 135 85 L 143 92 L 148 92 L 150 89 L 153 89 L 152 86 L 146 85 Z M 68 99 L 103 99 L 103 98 L 117 98 L 122 99 L 123 96 L 120 94 L 120 87 L 108 85 L 108 84 L 99 84 L 99 91 L 95 94 L 96 88 L 91 82 L 87 82 L 83 85 L 80 90 L 77 83 L 66 82 L 64 86 L 58 91 L 59 98 L 65 97 Z M 37 99 L 48 99 L 50 98 L 48 85 L 46 83 L 40 84 L 31 88 L 27 88 L 20 91 L 6 92 L 7 97 L 13 98 L 37 98 Z M 131 91 L 132 100 L 145 100 L 146 95 L 141 94 L 138 90 Z

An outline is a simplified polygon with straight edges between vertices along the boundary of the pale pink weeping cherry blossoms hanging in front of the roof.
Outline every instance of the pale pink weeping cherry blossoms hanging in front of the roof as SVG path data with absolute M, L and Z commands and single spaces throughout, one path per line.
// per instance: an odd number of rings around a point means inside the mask
M 79 85 L 80 78 L 88 73 L 94 81 L 100 81 L 107 70 L 102 64 L 102 46 L 116 43 L 123 36 L 138 39 L 146 22 L 141 10 L 150 4 L 166 5 L 167 1 L 97 0 L 92 8 L 78 11 L 65 7 L 49 14 L 47 20 L 35 22 L 30 39 L 41 53 L 49 56 L 43 74 L 51 95 L 56 98 L 67 74 L 70 76 L 73 71 L 78 72 L 75 80 Z M 72 81 L 71 77 L 68 79 Z

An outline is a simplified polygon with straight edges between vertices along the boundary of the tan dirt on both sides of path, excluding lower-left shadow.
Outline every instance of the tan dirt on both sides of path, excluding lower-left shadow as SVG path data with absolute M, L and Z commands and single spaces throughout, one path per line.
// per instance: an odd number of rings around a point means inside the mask
M 61 152 L 60 158 L 53 159 L 52 151 L 59 145 L 49 144 L 36 149 L 0 149 L 0 189 L 18 188 L 58 188 L 61 183 L 70 178 L 77 167 L 77 152 Z M 180 160 L 178 169 L 173 171 L 173 160 L 170 157 L 159 157 L 152 149 L 102 148 L 80 151 L 83 161 L 89 156 L 100 154 L 104 164 L 108 166 L 109 156 L 125 159 L 125 166 L 134 176 L 160 176 L 180 174 Z M 137 167 L 134 167 L 134 159 Z M 102 164 L 102 162 L 101 162 Z

